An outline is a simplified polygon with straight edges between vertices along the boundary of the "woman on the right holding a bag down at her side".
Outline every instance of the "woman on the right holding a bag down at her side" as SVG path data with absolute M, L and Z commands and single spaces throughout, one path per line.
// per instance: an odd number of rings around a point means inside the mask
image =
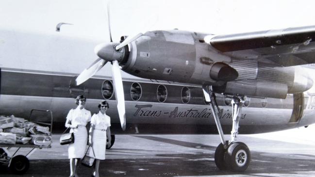
M 108 137 L 109 146 L 111 143 L 111 118 L 106 115 L 109 108 L 107 101 L 99 103 L 99 113 L 94 114 L 91 118 L 91 128 L 89 130 L 90 155 L 95 157 L 95 165 L 92 177 L 99 177 L 99 161 L 105 160 L 106 136 Z

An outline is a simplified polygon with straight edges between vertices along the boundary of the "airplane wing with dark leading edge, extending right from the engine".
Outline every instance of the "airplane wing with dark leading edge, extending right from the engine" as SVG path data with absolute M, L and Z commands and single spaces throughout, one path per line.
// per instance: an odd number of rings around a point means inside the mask
M 269 60 L 280 66 L 315 63 L 315 26 L 207 35 L 204 40 L 223 54 L 237 59 Z

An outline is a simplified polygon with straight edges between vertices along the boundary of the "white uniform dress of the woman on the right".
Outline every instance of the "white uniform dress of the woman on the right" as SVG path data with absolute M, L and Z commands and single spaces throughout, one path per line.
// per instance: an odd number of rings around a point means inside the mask
M 106 129 L 111 127 L 111 117 L 101 112 L 94 114 L 91 118 L 91 124 L 95 125 L 93 131 L 93 150 L 95 159 L 104 160 L 106 151 Z M 93 157 L 92 148 L 89 155 Z

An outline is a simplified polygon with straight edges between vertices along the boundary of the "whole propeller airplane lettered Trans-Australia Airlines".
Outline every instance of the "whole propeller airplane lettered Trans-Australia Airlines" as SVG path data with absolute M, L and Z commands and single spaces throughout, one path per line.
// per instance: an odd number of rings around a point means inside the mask
M 106 99 L 113 133 L 219 133 L 216 165 L 232 171 L 245 171 L 250 162 L 247 145 L 236 142 L 238 133 L 315 123 L 315 92 L 308 91 L 313 79 L 307 73 L 313 66 L 302 65 L 314 63 L 314 27 L 233 35 L 170 30 L 123 36 L 121 43 L 110 39 L 96 46 L 99 59 L 82 75 L 80 56 L 69 56 L 95 41 L 14 30 L 0 35 L 5 39 L 0 42 L 2 56 L 15 51 L 0 58 L 0 114 L 28 117 L 34 108 L 51 110 L 54 126 L 63 127 L 66 113 L 75 107 L 73 97 L 85 95 L 92 113 Z M 81 60 L 87 61 L 85 57 Z M 105 63 L 113 64 L 113 77 L 92 77 L 108 67 Z M 119 76 L 120 67 L 136 77 Z M 226 141 L 223 134 L 231 129 L 231 140 Z

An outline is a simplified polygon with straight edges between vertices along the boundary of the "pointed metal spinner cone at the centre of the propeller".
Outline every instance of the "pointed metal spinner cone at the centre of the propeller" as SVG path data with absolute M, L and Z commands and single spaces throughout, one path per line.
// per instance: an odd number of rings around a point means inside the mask
M 117 60 L 119 62 L 123 58 L 124 49 L 116 50 L 116 45 L 118 44 L 113 42 L 101 43 L 94 48 L 94 52 L 105 61 Z

